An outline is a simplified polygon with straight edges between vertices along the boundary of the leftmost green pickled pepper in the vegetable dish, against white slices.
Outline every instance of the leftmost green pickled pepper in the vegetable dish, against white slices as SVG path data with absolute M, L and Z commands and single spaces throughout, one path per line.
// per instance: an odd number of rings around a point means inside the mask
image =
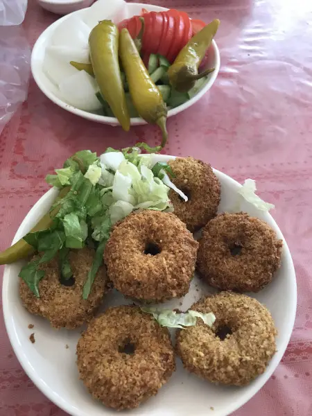
M 102 20 L 89 35 L 92 67 L 98 87 L 123 130 L 130 129 L 130 116 L 118 58 L 119 31 L 110 20 Z

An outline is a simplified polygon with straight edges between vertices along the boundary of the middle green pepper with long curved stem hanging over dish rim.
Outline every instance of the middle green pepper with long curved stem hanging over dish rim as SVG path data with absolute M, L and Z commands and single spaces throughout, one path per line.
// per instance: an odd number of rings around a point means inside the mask
M 137 112 L 142 119 L 148 123 L 159 125 L 159 128 L 162 130 L 161 146 L 150 149 L 154 152 L 159 152 L 165 146 L 168 138 L 166 130 L 166 103 L 164 103 L 159 89 L 151 80 L 148 70 L 135 46 L 135 42 L 126 28 L 123 28 L 120 33 L 119 55 L 125 76 L 127 77 L 132 102 Z M 144 147 L 142 144 L 137 144 L 136 146 Z

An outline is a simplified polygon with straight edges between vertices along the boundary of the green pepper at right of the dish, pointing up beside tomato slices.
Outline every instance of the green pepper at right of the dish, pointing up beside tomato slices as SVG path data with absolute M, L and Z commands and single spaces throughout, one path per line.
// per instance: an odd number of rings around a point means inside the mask
M 198 73 L 200 62 L 211 41 L 218 31 L 219 19 L 211 21 L 201 31 L 196 33 L 184 46 L 175 58 L 175 62 L 168 69 L 168 77 L 173 88 L 178 92 L 188 92 L 196 83 L 196 80 L 207 76 L 214 68 Z

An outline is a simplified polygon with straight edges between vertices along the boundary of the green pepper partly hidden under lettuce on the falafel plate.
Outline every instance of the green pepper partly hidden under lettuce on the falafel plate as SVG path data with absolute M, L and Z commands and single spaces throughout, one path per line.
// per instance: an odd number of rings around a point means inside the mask
M 55 202 L 64 198 L 64 196 L 69 192 L 69 189 L 70 187 L 62 188 Z M 56 214 L 58 214 L 59 209 L 60 206 L 55 207 L 53 211 L 43 216 L 41 220 L 37 223 L 37 225 L 35 225 L 35 227 L 31 229 L 31 232 L 42 231 L 51 227 L 53 218 Z M 17 260 L 25 259 L 25 257 L 28 257 L 29 255 L 33 254 L 34 251 L 35 250 L 32 245 L 29 245 L 28 243 L 26 243 L 24 239 L 21 239 L 17 241 L 17 243 L 13 244 L 11 247 L 7 248 L 6 250 L 0 253 L 0 264 L 10 264 L 14 263 Z

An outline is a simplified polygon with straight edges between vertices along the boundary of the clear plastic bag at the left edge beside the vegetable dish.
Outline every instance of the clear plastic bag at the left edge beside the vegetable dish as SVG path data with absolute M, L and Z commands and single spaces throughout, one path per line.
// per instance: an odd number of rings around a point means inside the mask
M 0 135 L 26 100 L 31 49 L 21 26 L 27 0 L 0 0 Z

